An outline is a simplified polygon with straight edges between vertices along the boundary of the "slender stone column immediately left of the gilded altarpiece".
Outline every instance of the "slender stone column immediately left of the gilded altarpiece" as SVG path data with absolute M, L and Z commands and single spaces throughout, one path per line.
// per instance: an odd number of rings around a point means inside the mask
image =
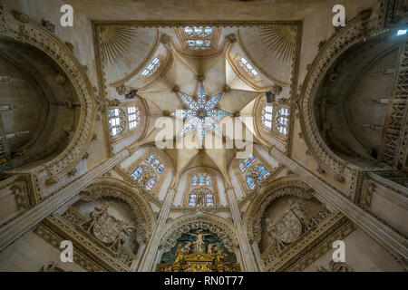
M 160 246 L 160 237 L 163 228 L 166 226 L 167 218 L 169 218 L 171 205 L 173 204 L 174 196 L 176 195 L 176 189 L 170 188 L 167 191 L 166 198 L 162 208 L 160 209 L 159 218 L 157 219 L 156 227 L 151 234 L 151 240 L 146 247 L 141 258 L 141 266 L 139 266 L 139 272 L 151 272 L 154 271 L 156 263 L 156 255 Z

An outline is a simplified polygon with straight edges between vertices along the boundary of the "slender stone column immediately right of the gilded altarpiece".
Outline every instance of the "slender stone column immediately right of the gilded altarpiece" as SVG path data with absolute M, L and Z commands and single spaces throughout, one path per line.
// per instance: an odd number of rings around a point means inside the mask
M 257 263 L 254 254 L 248 242 L 247 231 L 242 225 L 241 213 L 238 208 L 238 201 L 233 188 L 227 189 L 229 208 L 231 209 L 232 220 L 237 231 L 239 249 L 242 257 L 242 270 L 247 272 L 256 272 Z

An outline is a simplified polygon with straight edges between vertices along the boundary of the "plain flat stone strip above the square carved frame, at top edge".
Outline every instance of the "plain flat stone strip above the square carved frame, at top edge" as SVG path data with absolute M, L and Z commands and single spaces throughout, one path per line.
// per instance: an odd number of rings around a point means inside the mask
M 288 21 L 304 19 L 307 14 L 318 10 L 325 0 L 66 0 L 66 2 L 93 20 Z

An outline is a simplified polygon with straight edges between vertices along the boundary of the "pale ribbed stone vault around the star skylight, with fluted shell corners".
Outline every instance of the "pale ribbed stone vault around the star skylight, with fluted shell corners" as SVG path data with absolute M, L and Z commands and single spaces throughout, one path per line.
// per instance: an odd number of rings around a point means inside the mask
M 103 82 L 103 93 L 107 99 L 125 101 L 124 95 L 119 93 L 117 88 L 124 86 L 127 90 L 137 89 L 138 95 L 148 102 L 151 122 L 154 122 L 155 118 L 166 116 L 166 111 L 183 108 L 176 87 L 180 92 L 194 96 L 199 82 L 202 81 L 207 92 L 207 100 L 224 91 L 218 109 L 240 116 L 239 120 L 244 130 L 247 128 L 253 134 L 252 140 L 262 143 L 263 141 L 255 134 L 253 121 L 245 121 L 242 117 L 252 116 L 253 101 L 259 96 L 264 96 L 275 84 L 283 87 L 278 98 L 290 98 L 295 49 L 300 42 L 298 24 L 267 22 L 263 23 L 263 26 L 252 27 L 245 24 L 232 27 L 218 26 L 219 38 L 214 44 L 213 51 L 207 54 L 194 54 L 182 45 L 178 29 L 182 30 L 183 26 L 141 27 L 134 22 L 120 24 L 96 22 L 94 24 L 98 43 L 96 52 L 99 67 L 102 68 L 102 72 L 99 73 Z M 228 37 L 232 37 L 233 41 L 229 41 Z M 283 50 L 277 50 L 274 42 L 285 43 Z M 115 53 L 112 53 L 112 48 L 115 48 Z M 285 53 L 289 56 L 285 57 Z M 158 69 L 160 73 L 151 81 L 147 81 L 141 77 L 141 72 L 155 57 L 160 57 L 160 63 L 164 64 L 160 64 Z M 242 72 L 239 73 L 237 60 L 241 57 L 247 58 L 248 62 L 253 64 L 258 72 L 257 81 L 248 81 L 248 78 L 242 76 Z M 175 121 L 174 117 L 168 118 Z M 232 117 L 225 119 L 228 118 Z M 146 134 L 147 137 L 140 143 L 154 143 L 158 132 L 159 129 L 151 127 Z M 221 137 L 208 131 L 209 134 L 215 139 L 221 138 L 223 144 L 227 140 L 246 139 L 245 135 L 237 137 L 225 129 Z M 175 135 L 173 138 L 176 142 Z M 227 176 L 231 156 L 235 155 L 236 150 L 235 147 L 180 149 L 167 150 L 167 153 L 171 160 L 177 160 L 175 164 L 177 174 L 191 166 L 210 165 Z

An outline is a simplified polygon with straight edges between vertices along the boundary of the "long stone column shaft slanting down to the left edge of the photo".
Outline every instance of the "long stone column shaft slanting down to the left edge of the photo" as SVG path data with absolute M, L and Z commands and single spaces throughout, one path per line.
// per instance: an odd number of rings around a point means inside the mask
M 61 189 L 58 193 L 50 198 L 46 198 L 44 202 L 25 212 L 23 215 L 15 218 L 5 227 L 0 228 L 0 251 L 13 243 L 18 237 L 24 235 L 36 224 L 41 222 L 44 218 L 51 215 L 54 211 L 72 204 L 77 200 L 78 193 L 92 184 L 93 180 L 106 173 L 116 165 L 120 164 L 131 155 L 128 149 L 121 150 L 118 154 L 109 160 L 104 160 L 100 165 L 94 169 L 89 170 L 83 174 L 79 179 Z

